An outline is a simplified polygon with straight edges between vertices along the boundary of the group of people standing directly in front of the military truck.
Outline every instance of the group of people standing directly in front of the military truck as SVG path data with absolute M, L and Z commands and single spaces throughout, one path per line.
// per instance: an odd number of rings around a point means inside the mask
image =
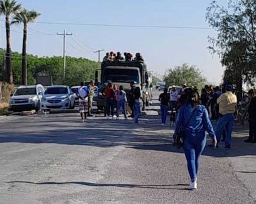
M 122 108 L 124 118 L 127 120 L 126 106 L 129 105 L 131 109 L 131 117 L 134 118 L 136 124 L 139 123 L 139 117 L 141 115 L 141 103 L 145 103 L 141 97 L 141 92 L 139 87 L 135 87 L 134 82 L 130 83 L 130 91 L 128 96 L 124 91 L 124 87 L 119 88 L 116 84 L 108 83 L 108 87 L 105 90 L 106 96 L 106 116 L 107 118 L 113 118 L 119 120 L 119 111 Z M 114 115 L 114 108 L 116 107 L 116 115 Z

